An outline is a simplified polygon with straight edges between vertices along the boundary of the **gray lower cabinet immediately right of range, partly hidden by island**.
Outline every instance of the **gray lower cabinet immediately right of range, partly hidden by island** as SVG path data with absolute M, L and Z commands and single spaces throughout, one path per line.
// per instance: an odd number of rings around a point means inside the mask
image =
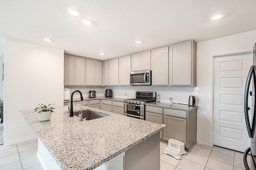
M 163 124 L 163 108 L 146 106 L 146 121 Z M 160 131 L 160 139 L 163 139 L 163 131 Z

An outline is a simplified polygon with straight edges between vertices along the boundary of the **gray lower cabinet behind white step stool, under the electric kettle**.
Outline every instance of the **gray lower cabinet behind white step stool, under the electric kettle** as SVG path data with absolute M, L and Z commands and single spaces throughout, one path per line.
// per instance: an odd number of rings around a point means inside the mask
M 176 139 L 185 144 L 185 150 L 190 151 L 196 144 L 196 114 L 197 109 L 182 111 L 164 108 L 163 140 Z

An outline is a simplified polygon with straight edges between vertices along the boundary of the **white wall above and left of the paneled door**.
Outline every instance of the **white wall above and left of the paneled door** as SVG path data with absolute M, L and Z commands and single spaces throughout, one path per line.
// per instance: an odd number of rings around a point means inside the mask
M 255 42 L 256 30 L 197 43 L 198 142 L 209 145 L 212 141 L 212 137 L 209 135 L 212 133 L 210 131 L 210 120 L 212 117 L 211 55 L 229 51 L 252 49 Z

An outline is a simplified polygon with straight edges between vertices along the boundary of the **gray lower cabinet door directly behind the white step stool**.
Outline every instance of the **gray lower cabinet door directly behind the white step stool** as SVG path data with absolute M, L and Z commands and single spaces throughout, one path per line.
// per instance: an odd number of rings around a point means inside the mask
M 182 141 L 187 147 L 187 120 L 181 119 L 178 117 L 166 116 L 164 115 L 164 140 L 168 141 L 169 139 L 176 139 Z

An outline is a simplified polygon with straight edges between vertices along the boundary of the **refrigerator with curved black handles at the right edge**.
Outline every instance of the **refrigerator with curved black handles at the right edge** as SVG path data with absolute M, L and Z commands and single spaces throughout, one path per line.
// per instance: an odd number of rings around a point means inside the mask
M 255 55 L 255 53 L 253 53 L 253 55 Z M 250 85 L 252 86 L 251 88 L 250 88 Z M 248 137 L 251 138 L 251 145 L 250 147 L 248 147 L 248 149 L 244 151 L 244 155 L 243 155 L 244 167 L 246 170 L 256 170 L 256 164 L 254 160 L 254 156 L 256 156 L 256 135 L 255 135 L 256 91 L 255 89 L 256 89 L 256 67 L 255 65 L 252 65 L 248 73 L 245 92 L 244 92 L 245 122 L 246 122 L 247 131 L 248 131 Z M 252 99 L 251 104 L 249 106 L 248 106 L 248 97 Z M 251 114 L 248 113 L 248 110 L 250 110 Z

